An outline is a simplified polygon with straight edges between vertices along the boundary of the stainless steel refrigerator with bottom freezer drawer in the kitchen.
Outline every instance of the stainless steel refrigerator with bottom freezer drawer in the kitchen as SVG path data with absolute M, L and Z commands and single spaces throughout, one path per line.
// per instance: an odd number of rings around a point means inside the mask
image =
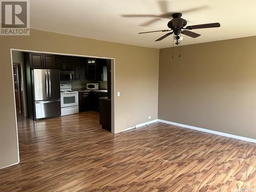
M 59 70 L 32 70 L 34 119 L 60 116 Z

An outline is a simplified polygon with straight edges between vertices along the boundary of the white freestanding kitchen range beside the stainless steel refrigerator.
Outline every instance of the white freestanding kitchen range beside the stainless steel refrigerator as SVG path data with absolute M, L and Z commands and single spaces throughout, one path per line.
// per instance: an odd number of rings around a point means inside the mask
M 78 91 L 71 88 L 71 84 L 60 84 L 61 116 L 79 113 Z

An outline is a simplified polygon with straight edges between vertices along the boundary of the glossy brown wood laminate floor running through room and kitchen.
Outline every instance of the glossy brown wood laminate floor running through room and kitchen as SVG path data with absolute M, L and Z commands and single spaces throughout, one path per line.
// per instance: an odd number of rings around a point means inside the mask
M 0 169 L 1 192 L 256 191 L 255 143 L 164 123 L 113 135 L 97 112 L 18 117 L 18 138 L 20 164 Z

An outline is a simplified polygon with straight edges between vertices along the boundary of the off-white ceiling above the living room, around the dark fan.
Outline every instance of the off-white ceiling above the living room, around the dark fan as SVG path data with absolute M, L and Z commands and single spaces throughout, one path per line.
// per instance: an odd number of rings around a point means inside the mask
M 183 11 L 182 18 L 188 20 L 188 25 L 219 22 L 221 27 L 193 30 L 201 36 L 191 38 L 183 35 L 182 45 L 256 35 L 255 0 L 166 0 L 167 6 L 162 8 L 160 4 L 165 5 L 157 0 L 31 0 L 31 28 L 129 45 L 166 48 L 173 45 L 172 36 L 155 42 L 166 32 L 138 33 L 168 29 L 170 19 L 161 18 L 142 26 L 152 17 L 123 17 L 122 14 L 160 15 L 161 11 Z

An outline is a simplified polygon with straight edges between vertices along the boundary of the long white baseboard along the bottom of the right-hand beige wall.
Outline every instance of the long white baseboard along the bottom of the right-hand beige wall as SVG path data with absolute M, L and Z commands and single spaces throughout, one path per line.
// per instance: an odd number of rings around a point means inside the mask
M 256 139 L 252 139 L 252 138 L 248 138 L 248 137 L 242 137 L 242 136 L 238 136 L 238 135 L 232 135 L 232 134 L 228 134 L 228 133 L 223 133 L 223 132 L 217 132 L 217 131 L 212 131 L 212 130 L 207 130 L 207 129 L 203 129 L 200 127 L 196 127 L 196 126 L 191 126 L 191 125 L 186 125 L 186 124 L 181 124 L 181 123 L 175 123 L 172 121 L 165 121 L 162 119 L 158 119 L 159 122 L 162 123 L 167 123 L 167 124 L 172 124 L 172 125 L 176 125 L 176 126 L 181 126 L 181 127 L 185 127 L 191 130 L 197 130 L 197 131 L 201 131 L 201 132 L 206 132 L 206 133 L 211 133 L 211 134 L 215 134 L 215 135 L 221 135 L 224 137 L 230 137 L 230 138 L 234 138 L 234 139 L 239 139 L 239 140 L 243 140 L 243 141 L 249 141 L 252 143 L 256 143 Z

